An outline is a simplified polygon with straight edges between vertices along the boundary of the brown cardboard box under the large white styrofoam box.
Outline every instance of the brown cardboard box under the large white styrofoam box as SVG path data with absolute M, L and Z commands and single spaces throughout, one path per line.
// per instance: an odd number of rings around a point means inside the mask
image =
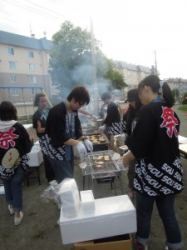
M 126 237 L 128 236 L 128 237 Z M 113 238 L 113 239 L 112 239 Z M 74 244 L 74 250 L 132 250 L 132 239 L 129 235 L 112 237 L 103 241 L 87 241 Z

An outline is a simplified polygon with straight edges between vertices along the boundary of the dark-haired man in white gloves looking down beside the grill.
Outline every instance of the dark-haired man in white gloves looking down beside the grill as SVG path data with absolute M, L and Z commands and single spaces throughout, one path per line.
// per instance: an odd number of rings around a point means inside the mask
M 80 141 L 82 129 L 77 112 L 89 101 L 88 91 L 84 87 L 76 87 L 66 102 L 61 102 L 49 111 L 42 148 L 49 157 L 58 183 L 64 178 L 73 177 L 73 148 L 81 159 L 86 156 L 87 149 L 93 149 L 90 141 Z

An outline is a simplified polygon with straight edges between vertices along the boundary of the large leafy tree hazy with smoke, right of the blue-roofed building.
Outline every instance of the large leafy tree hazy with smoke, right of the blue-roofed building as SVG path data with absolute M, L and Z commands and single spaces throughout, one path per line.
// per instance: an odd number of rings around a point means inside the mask
M 64 94 L 78 84 L 93 85 L 106 73 L 106 58 L 92 34 L 66 21 L 53 36 L 52 81 Z

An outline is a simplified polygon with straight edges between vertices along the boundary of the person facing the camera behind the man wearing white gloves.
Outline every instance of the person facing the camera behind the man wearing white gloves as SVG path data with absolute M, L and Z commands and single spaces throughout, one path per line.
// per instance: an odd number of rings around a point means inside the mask
M 48 100 L 44 93 L 38 93 L 35 96 L 34 106 L 38 107 L 36 112 L 32 117 L 33 128 L 36 129 L 39 142 L 41 142 L 41 137 L 45 135 L 46 120 L 49 113 Z M 45 176 L 48 182 L 54 180 L 54 171 L 50 166 L 48 157 L 43 154 Z

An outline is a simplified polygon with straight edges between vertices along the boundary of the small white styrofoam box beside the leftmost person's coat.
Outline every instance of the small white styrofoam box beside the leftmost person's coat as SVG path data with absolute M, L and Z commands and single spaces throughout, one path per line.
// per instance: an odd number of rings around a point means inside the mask
M 28 156 L 29 156 L 29 161 L 28 161 L 29 167 L 40 166 L 40 164 L 43 162 L 42 151 L 39 145 L 34 145 Z

